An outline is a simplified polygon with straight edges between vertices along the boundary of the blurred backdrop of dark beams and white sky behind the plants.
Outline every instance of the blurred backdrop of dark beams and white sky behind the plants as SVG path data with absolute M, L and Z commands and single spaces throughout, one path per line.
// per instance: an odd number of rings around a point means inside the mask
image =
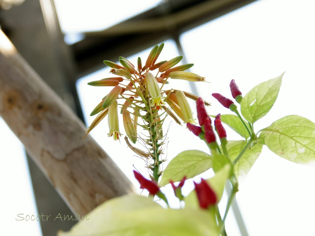
M 151 48 L 162 42 L 160 60 L 183 55 L 183 63 L 195 64 L 191 72 L 211 82 L 172 86 L 211 102 L 212 115 L 229 113 L 211 93 L 230 96 L 231 79 L 246 94 L 285 71 L 278 100 L 257 121 L 258 131 L 291 114 L 315 121 L 314 9 L 311 0 L 0 0 L 0 27 L 87 126 L 93 120 L 89 114 L 108 92 L 87 85 L 111 77 L 103 60 L 117 62 L 123 56 L 136 63 L 140 56 L 145 61 Z M 194 103 L 191 107 L 196 114 Z M 168 160 L 186 149 L 207 152 L 185 126 L 170 121 L 168 127 Z M 55 236 L 58 230 L 69 230 L 75 222 L 16 220 L 18 214 L 71 212 L 1 118 L 0 130 L 1 231 Z M 134 157 L 123 140 L 114 142 L 107 133 L 105 119 L 90 135 L 137 185 L 132 169 L 146 173 L 143 160 Z M 241 140 L 231 130 L 227 136 Z M 202 175 L 211 176 L 211 172 Z M 314 179 L 314 163 L 294 164 L 264 147 L 250 173 L 241 179 L 237 194 L 236 214 L 242 215 L 246 229 L 230 211 L 227 234 L 314 235 Z M 190 182 L 184 191 L 191 189 Z M 169 186 L 165 192 L 172 195 Z

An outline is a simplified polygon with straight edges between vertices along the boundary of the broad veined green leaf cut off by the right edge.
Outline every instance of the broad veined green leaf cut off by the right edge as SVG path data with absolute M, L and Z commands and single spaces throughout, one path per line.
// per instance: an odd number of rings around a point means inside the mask
M 315 161 L 315 123 L 290 115 L 263 129 L 266 146 L 289 161 L 306 164 Z

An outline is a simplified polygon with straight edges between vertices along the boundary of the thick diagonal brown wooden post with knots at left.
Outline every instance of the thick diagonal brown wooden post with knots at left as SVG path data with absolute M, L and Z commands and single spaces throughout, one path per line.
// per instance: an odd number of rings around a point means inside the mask
M 1 30 L 0 116 L 74 214 L 134 192 L 104 150 L 90 136 L 83 140 L 84 124 Z

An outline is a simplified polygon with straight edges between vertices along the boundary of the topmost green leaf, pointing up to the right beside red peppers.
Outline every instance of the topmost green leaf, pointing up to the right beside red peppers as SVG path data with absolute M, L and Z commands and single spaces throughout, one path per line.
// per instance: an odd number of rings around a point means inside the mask
M 254 123 L 270 111 L 278 97 L 283 75 L 255 86 L 243 97 L 241 112 L 247 121 Z

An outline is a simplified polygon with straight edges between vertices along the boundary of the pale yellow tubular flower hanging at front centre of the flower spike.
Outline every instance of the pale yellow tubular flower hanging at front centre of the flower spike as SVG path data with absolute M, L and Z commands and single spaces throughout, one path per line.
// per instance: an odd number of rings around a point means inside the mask
M 151 107 L 156 107 L 158 110 L 161 106 L 165 105 L 163 101 L 163 97 L 161 95 L 161 90 L 158 86 L 158 81 L 156 77 L 152 73 L 146 73 L 145 76 L 147 87 L 149 89 L 149 93 L 151 95 Z

